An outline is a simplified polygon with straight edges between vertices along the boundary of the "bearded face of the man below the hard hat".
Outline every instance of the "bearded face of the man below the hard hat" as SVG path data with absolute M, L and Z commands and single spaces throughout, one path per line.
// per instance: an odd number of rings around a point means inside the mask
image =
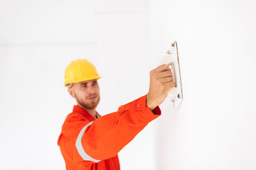
M 74 83 L 68 92 L 78 102 L 78 106 L 85 109 L 94 109 L 100 101 L 100 87 L 97 80 Z

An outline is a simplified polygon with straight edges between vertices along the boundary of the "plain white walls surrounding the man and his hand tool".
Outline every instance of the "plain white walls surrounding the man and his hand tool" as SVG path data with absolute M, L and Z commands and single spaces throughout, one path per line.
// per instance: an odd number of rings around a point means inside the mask
M 119 153 L 128 169 L 256 169 L 254 1 L 0 0 L 0 169 L 65 169 L 70 61 L 90 60 L 101 115 L 149 89 L 178 42 L 184 101 Z

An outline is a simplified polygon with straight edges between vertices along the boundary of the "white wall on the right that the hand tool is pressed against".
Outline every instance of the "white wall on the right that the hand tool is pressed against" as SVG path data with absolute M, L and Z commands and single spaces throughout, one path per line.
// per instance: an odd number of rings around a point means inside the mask
M 151 0 L 152 61 L 177 40 L 184 101 L 157 120 L 157 169 L 256 169 L 255 1 Z

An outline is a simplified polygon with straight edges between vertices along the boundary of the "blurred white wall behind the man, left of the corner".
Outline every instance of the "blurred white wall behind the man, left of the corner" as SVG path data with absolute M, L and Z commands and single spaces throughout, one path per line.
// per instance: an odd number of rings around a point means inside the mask
M 75 104 L 63 86 L 72 60 L 102 75 L 102 115 L 147 93 L 149 17 L 146 0 L 0 1 L 0 169 L 65 169 L 57 140 Z M 119 153 L 122 169 L 154 169 L 154 129 Z

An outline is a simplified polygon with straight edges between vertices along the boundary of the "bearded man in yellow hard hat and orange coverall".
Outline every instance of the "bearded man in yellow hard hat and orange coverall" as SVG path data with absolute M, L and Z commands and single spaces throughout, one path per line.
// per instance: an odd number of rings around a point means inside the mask
M 163 64 L 151 70 L 148 94 L 101 117 L 96 111 L 100 78 L 87 60 L 75 60 L 65 69 L 65 86 L 78 104 L 67 116 L 58 138 L 66 169 L 120 169 L 117 153 L 161 115 L 159 105 L 176 86 L 171 69 Z

